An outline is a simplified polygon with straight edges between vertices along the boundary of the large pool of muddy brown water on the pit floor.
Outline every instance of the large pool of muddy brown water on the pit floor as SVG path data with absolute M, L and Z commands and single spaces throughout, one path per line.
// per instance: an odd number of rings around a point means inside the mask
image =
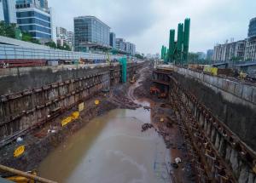
M 140 102 L 149 106 L 147 101 Z M 39 165 L 40 176 L 58 182 L 170 182 L 170 151 L 150 123 L 150 112 L 116 109 L 96 117 Z

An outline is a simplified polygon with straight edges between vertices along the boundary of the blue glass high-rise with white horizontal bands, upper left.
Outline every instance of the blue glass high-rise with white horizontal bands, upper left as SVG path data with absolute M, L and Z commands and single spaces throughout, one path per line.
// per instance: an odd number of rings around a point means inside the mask
M 21 31 L 27 31 L 37 39 L 53 38 L 51 10 L 42 7 L 40 0 L 17 0 L 16 11 Z

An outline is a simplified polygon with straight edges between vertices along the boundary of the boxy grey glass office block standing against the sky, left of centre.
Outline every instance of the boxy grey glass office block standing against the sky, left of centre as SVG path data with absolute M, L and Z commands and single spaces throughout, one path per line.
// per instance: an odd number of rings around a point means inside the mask
M 87 51 L 96 45 L 109 47 L 109 31 L 110 27 L 95 16 L 74 18 L 75 51 Z

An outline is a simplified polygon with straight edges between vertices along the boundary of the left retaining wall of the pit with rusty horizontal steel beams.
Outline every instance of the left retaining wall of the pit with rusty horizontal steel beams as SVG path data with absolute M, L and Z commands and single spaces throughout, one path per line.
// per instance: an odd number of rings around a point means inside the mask
M 142 65 L 128 64 L 128 77 L 138 66 Z M 120 77 L 119 65 L 75 71 L 34 71 L 22 77 L 4 77 L 0 80 L 2 93 L 20 92 L 0 98 L 0 140 L 26 133 L 80 101 L 118 84 Z

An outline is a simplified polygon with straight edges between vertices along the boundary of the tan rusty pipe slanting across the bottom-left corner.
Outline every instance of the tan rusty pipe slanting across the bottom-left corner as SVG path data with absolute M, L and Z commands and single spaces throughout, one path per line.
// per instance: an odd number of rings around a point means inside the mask
M 13 168 L 3 166 L 2 164 L 0 164 L 0 169 L 3 170 L 3 171 L 6 171 L 6 172 L 12 173 L 12 174 L 17 174 L 17 175 L 26 177 L 27 179 L 37 180 L 37 181 L 42 182 L 42 183 L 57 183 L 55 181 L 47 180 L 47 179 L 44 179 L 42 177 L 39 177 L 35 174 L 28 174 L 28 173 L 22 172 L 18 169 L 13 169 Z

